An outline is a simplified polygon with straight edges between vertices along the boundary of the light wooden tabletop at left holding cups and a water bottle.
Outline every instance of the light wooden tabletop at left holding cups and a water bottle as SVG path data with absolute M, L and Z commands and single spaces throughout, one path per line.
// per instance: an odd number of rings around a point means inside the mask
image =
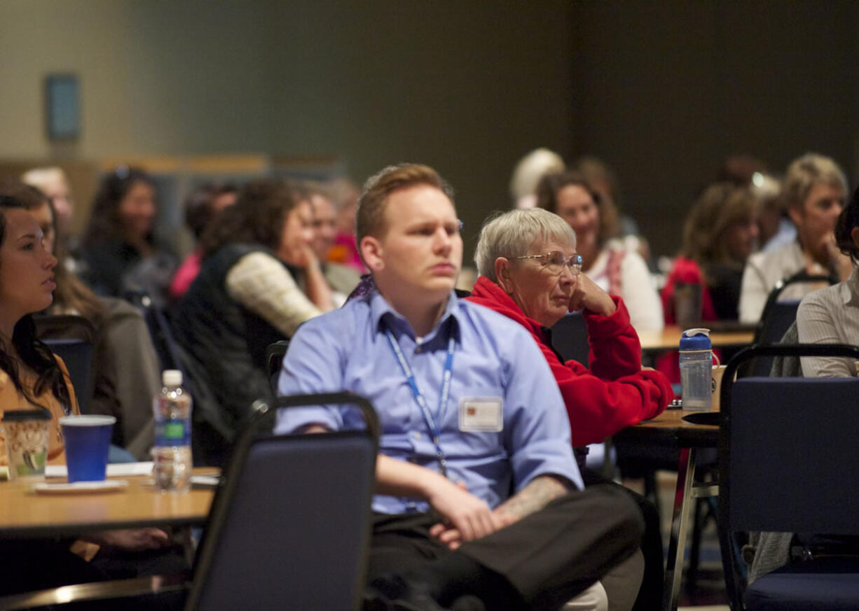
M 195 475 L 216 473 L 216 469 L 194 469 Z M 115 479 L 128 481 L 128 487 L 118 492 L 40 494 L 33 491 L 33 482 L 2 481 L 0 536 L 66 536 L 91 530 L 202 524 L 209 515 L 212 489 L 160 493 L 151 476 Z

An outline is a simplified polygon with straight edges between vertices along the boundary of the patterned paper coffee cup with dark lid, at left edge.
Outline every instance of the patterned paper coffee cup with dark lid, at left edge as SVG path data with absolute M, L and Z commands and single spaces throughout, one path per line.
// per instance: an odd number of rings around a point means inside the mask
M 14 409 L 3 413 L 9 479 L 45 479 L 51 413 L 46 409 Z

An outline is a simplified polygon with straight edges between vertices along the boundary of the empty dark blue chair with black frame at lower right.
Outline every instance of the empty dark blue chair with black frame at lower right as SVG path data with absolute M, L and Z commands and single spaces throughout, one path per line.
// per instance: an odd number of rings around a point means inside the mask
M 840 356 L 859 347 L 745 348 L 722 381 L 719 535 L 734 611 L 859 608 L 859 558 L 792 561 L 746 587 L 734 535 L 744 531 L 859 535 L 857 378 L 740 378 L 737 367 L 775 356 Z

